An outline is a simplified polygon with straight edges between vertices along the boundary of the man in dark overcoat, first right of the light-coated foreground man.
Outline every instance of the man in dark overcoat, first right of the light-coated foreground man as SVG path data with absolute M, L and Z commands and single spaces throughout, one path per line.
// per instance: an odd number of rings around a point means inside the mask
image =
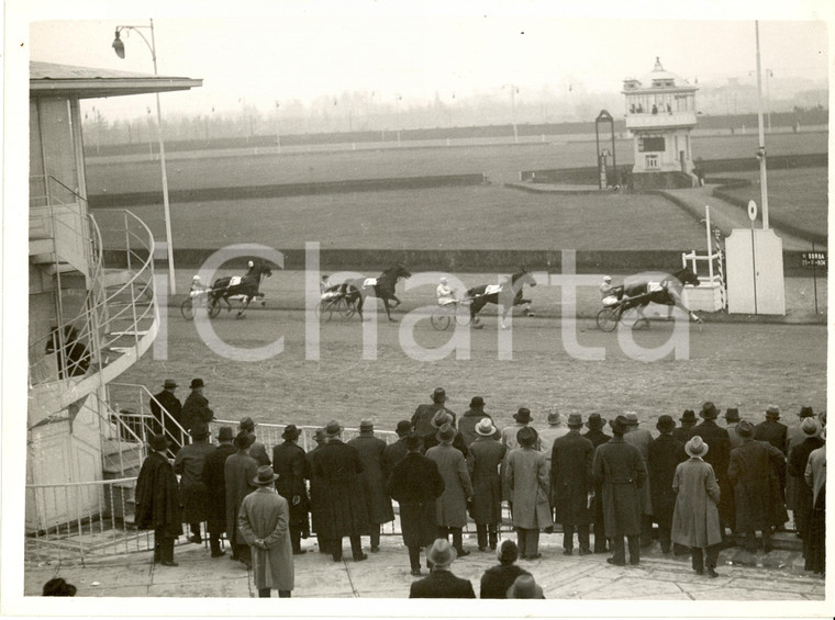
M 276 475 L 278 475 L 276 491 L 287 499 L 290 519 L 290 544 L 293 555 L 307 553 L 307 550 L 301 548 L 301 539 L 307 539 L 310 536 L 308 489 L 304 485 L 308 462 L 304 458 L 304 449 L 297 443 L 300 435 L 301 431 L 296 425 L 287 425 L 281 433 L 283 442 L 272 448 L 272 464 Z M 266 466 L 265 463 L 258 463 L 258 465 Z

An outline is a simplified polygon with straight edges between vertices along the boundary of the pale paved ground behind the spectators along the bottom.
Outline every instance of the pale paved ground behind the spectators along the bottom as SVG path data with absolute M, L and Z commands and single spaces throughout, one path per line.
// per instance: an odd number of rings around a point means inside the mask
M 689 555 L 661 554 L 657 542 L 644 550 L 639 566 L 617 567 L 606 563 L 608 554 L 575 553 L 567 557 L 563 555 L 561 540 L 558 533 L 543 536 L 543 557 L 520 561 L 548 599 L 822 601 L 825 598 L 824 580 L 803 571 L 797 551 L 776 549 L 768 554 L 750 555 L 736 548 L 726 550 L 720 555 L 720 576 L 711 579 L 693 573 Z M 293 597 L 402 599 L 409 595 L 414 577 L 409 572 L 400 537 L 383 537 L 381 551 L 369 553 L 369 559 L 361 563 L 350 560 L 334 563 L 330 555 L 318 553 L 314 539 L 302 544 L 309 552 L 296 556 Z M 496 555 L 479 552 L 469 537 L 465 537 L 465 546 L 471 554 L 457 560 L 453 571 L 470 579 L 478 594 L 481 574 L 497 563 Z M 345 548 L 349 557 L 347 540 Z M 31 563 L 24 570 L 24 594 L 38 595 L 44 583 L 62 576 L 78 588 L 79 597 L 257 596 L 252 574 L 241 563 L 230 561 L 229 552 L 224 557 L 211 559 L 204 545 L 182 542 L 175 550 L 175 561 L 178 567 L 154 565 L 151 552 L 144 552 L 88 560 L 85 564 Z

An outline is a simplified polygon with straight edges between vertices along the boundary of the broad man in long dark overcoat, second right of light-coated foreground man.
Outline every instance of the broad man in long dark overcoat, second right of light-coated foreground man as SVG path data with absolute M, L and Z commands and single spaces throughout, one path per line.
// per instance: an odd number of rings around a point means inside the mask
M 342 430 L 339 422 L 327 422 L 327 443 L 313 456 L 313 467 L 322 481 L 325 509 L 331 515 L 325 526 L 327 538 L 333 542 L 333 561 L 342 562 L 342 539 L 348 537 L 354 562 L 361 562 L 368 560 L 359 539 L 368 531 L 368 509 L 359 480 L 363 461 L 356 448 L 342 441 Z

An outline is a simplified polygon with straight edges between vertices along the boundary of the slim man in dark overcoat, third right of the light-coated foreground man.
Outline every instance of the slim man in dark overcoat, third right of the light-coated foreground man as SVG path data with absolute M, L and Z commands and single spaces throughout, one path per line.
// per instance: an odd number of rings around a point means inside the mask
M 374 436 L 374 421 L 365 419 L 359 422 L 359 437 L 348 441 L 348 446 L 357 450 L 363 463 L 359 481 L 366 498 L 371 553 L 377 553 L 380 551 L 382 523 L 394 520 L 391 499 L 386 493 L 386 477 L 382 474 L 382 452 L 386 450 L 386 442 Z

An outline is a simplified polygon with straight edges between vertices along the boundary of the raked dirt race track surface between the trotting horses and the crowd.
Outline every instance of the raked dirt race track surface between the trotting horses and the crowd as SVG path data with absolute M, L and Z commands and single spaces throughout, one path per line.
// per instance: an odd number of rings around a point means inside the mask
M 692 324 L 684 331 L 688 359 L 641 361 L 624 353 L 616 331 L 602 332 L 589 319 L 516 316 L 512 330 L 501 331 L 496 317 L 488 316 L 485 329 L 461 328 L 460 336 L 469 337 L 469 359 L 450 354 L 431 362 L 414 356 L 421 348 L 448 342 L 453 328 L 436 331 L 427 318 L 405 328 L 403 314 L 396 314 L 399 323 L 389 324 L 380 308 L 376 329 L 370 320 L 365 327 L 366 343 L 376 339 L 365 357 L 375 359 L 364 359 L 364 327 L 354 317 L 320 326 L 320 359 L 314 361 L 305 359 L 307 313 L 250 312 L 244 320 L 223 313 L 211 326 L 238 353 L 283 337 L 280 354 L 232 361 L 203 342 L 196 323 L 186 322 L 174 307 L 168 313 L 163 324 L 167 334 L 160 332 L 155 349 L 119 381 L 156 392 L 165 377 L 174 377 L 185 399 L 189 380 L 200 376 L 219 418 L 248 415 L 263 422 L 297 425 L 335 418 L 349 427 L 372 418 L 378 428 L 392 429 L 397 420 L 411 417 L 416 405 L 428 402 L 438 385 L 446 388 L 448 406 L 458 415 L 472 396 L 483 396 L 487 413 L 500 426 L 511 422 L 520 406 L 531 408 L 534 426 L 544 426 L 547 408 L 557 406 L 563 413 L 576 410 L 586 417 L 599 412 L 609 419 L 635 410 L 645 422 L 652 420 L 653 430 L 657 416 L 678 419 L 683 409 L 698 410 L 708 399 L 722 410 L 737 406 L 755 422 L 764 419 L 768 403 L 781 407 L 787 424 L 797 420 L 801 405 L 812 405 L 815 412 L 826 407 L 823 325 L 708 324 L 700 330 Z M 312 325 L 319 323 L 312 318 Z M 605 359 L 571 357 L 566 350 L 571 338 L 566 338 L 564 327 L 576 334 L 580 346 L 599 348 Z M 652 350 L 670 339 L 673 324 L 657 322 L 633 334 L 638 345 Z M 511 338 L 512 359 L 499 359 L 500 335 Z M 164 349 L 167 360 L 159 358 Z

